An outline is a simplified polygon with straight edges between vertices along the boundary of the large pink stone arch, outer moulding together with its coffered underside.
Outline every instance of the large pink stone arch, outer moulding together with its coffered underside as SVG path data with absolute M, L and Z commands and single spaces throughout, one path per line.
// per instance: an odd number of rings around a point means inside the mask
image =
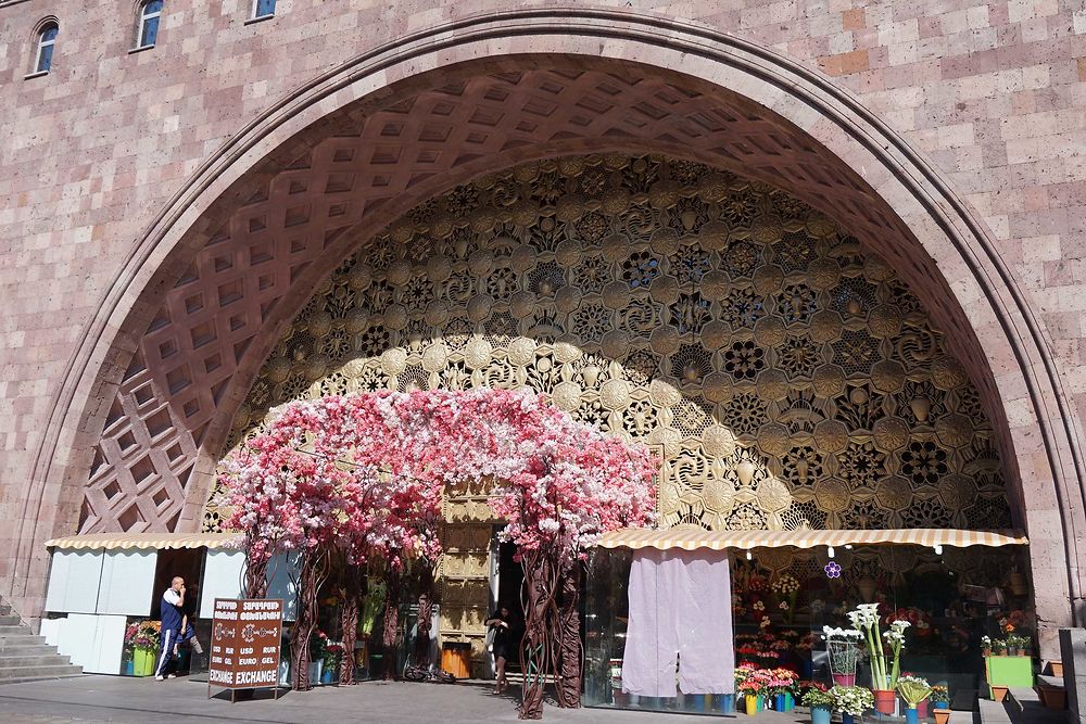
M 531 91 L 517 92 L 526 78 Z M 578 84 L 585 102 L 546 102 Z M 370 196 L 365 209 L 338 207 L 329 194 L 348 191 L 334 190 L 336 147 L 355 139 L 379 151 L 384 126 L 367 137 L 367 122 L 409 119 L 424 97 L 431 116 L 463 114 L 455 157 L 442 156 L 453 155 L 442 131 L 405 124 L 416 154 L 388 144 L 391 155 L 369 156 L 365 170 L 369 189 L 387 195 Z M 485 112 L 510 98 L 531 103 L 502 128 L 506 115 Z M 1078 422 L 1044 329 L 983 226 L 900 137 L 820 75 L 700 26 L 604 10 L 514 11 L 397 38 L 314 79 L 210 158 L 136 244 L 65 370 L 36 452 L 14 579 L 40 589 L 45 561 L 31 550 L 46 528 L 80 524 L 88 471 L 101 507 L 83 510 L 101 520 L 86 528 L 195 525 L 199 506 L 182 500 L 199 498 L 187 487 L 206 487 L 199 450 L 225 435 L 228 410 L 278 330 L 357 234 L 489 168 L 605 149 L 742 166 L 882 242 L 982 392 L 1034 541 L 1035 574 L 1063 582 L 1038 605 L 1069 620 L 1081 593 Z M 324 200 L 292 205 L 295 188 L 312 192 L 291 176 L 315 168 Z M 282 233 L 262 247 L 248 234 L 273 228 L 269 220 Z M 281 268 L 262 278 L 266 255 Z

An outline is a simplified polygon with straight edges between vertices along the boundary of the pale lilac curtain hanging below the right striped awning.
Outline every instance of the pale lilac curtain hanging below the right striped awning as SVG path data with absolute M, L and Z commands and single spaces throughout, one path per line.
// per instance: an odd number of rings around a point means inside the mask
M 622 690 L 647 697 L 732 694 L 735 650 L 727 554 L 634 551 Z M 677 673 L 678 666 L 678 673 Z

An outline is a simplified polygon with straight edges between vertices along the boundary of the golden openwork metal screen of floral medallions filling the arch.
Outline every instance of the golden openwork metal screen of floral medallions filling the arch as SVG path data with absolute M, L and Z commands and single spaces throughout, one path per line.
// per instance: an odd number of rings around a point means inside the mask
M 702 164 L 566 156 L 416 206 L 324 280 L 230 442 L 290 399 L 478 386 L 657 445 L 664 525 L 1009 524 L 980 395 L 908 285 Z

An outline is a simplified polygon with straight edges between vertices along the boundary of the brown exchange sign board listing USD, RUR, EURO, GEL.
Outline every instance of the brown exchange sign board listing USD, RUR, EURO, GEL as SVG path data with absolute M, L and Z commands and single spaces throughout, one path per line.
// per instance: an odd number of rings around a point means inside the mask
M 216 598 L 211 630 L 209 694 L 228 689 L 276 688 L 282 640 L 282 601 L 264 598 Z

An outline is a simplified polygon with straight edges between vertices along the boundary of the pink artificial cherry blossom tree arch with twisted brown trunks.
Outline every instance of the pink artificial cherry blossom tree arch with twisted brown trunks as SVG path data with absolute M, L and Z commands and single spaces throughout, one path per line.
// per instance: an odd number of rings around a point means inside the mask
M 584 549 L 608 530 L 652 522 L 655 468 L 644 446 L 527 391 L 381 391 L 287 405 L 231 453 L 224 482 L 229 525 L 245 533 L 251 559 L 266 569 L 280 549 L 304 551 L 302 596 L 315 607 L 328 551 L 379 555 L 394 572 L 412 560 L 432 566 L 444 486 L 500 481 L 490 505 L 526 572 L 520 715 L 538 719 L 547 673 L 560 682 L 563 706 L 579 704 Z M 312 628 L 314 617 L 315 608 L 301 611 L 298 627 Z M 305 660 L 295 661 L 295 681 Z

